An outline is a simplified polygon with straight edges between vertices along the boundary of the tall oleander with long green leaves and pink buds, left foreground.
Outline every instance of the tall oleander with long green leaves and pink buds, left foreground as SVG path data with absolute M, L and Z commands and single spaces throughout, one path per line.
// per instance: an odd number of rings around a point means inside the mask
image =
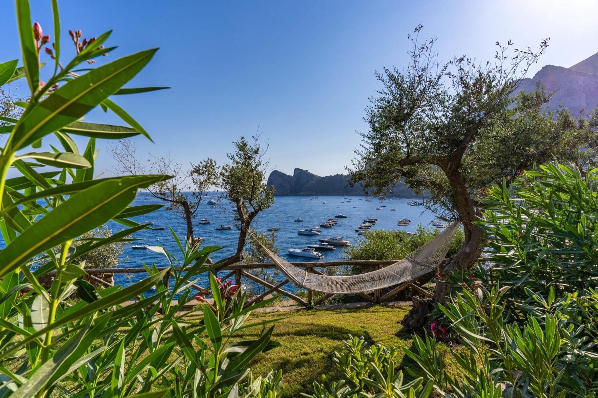
M 251 311 L 269 301 L 246 307 L 244 293 L 232 286 L 222 298 L 210 273 L 210 303 L 184 310 L 218 247 L 172 232 L 180 253 L 154 247 L 168 266 L 143 264 L 144 280 L 106 289 L 84 280 L 83 256 L 130 240 L 147 228 L 130 218 L 160 207 L 132 205 L 138 190 L 170 178 L 94 175 L 97 140 L 151 140 L 114 97 L 164 87 L 123 87 L 156 49 L 112 60 L 111 32 L 83 38 L 81 30 L 68 30 L 74 56 L 67 59 L 72 48 L 60 47 L 57 1 L 51 6 L 53 32 L 44 35 L 30 19 L 29 2 L 16 0 L 22 59 L 0 63 L 0 88 L 23 82 L 30 92 L 0 116 L 0 396 L 275 397 L 282 373 L 256 378 L 248 367 L 277 346 L 271 327 L 254 341 L 231 342 L 255 326 Z M 127 126 L 84 121 L 97 106 Z M 83 151 L 72 136 L 87 137 Z M 123 229 L 89 238 L 109 221 Z M 48 277 L 50 284 L 40 283 Z M 69 299 L 74 293 L 77 301 Z

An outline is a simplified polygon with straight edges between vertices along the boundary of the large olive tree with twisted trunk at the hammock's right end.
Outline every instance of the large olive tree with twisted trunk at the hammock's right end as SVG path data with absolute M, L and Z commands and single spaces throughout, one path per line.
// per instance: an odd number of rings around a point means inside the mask
M 512 97 L 548 39 L 535 51 L 497 42 L 493 62 L 460 56 L 441 63 L 436 39 L 420 42 L 421 30 L 409 36 L 408 65 L 377 74 L 382 89 L 366 109 L 369 131 L 361 133 L 362 148 L 347 169 L 352 185 L 379 195 L 404 180 L 429 196 L 426 206 L 462 222 L 463 247 L 439 273 L 443 280 L 454 268 L 471 267 L 481 253 L 483 229 L 474 221 L 491 182 L 533 163 L 579 158 L 594 131 L 566 111 L 544 114 L 548 95 L 541 87 Z M 444 302 L 448 292 L 448 284 L 438 283 L 434 301 Z

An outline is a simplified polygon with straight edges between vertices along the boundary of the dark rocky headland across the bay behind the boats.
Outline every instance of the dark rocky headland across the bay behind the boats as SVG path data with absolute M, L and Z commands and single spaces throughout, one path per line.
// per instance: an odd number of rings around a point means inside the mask
M 303 169 L 295 169 L 292 176 L 274 170 L 268 177 L 268 186 L 274 186 L 275 195 L 363 195 L 358 186 L 347 185 L 345 174 L 321 177 Z M 416 197 L 402 185 L 396 186 L 393 196 Z

